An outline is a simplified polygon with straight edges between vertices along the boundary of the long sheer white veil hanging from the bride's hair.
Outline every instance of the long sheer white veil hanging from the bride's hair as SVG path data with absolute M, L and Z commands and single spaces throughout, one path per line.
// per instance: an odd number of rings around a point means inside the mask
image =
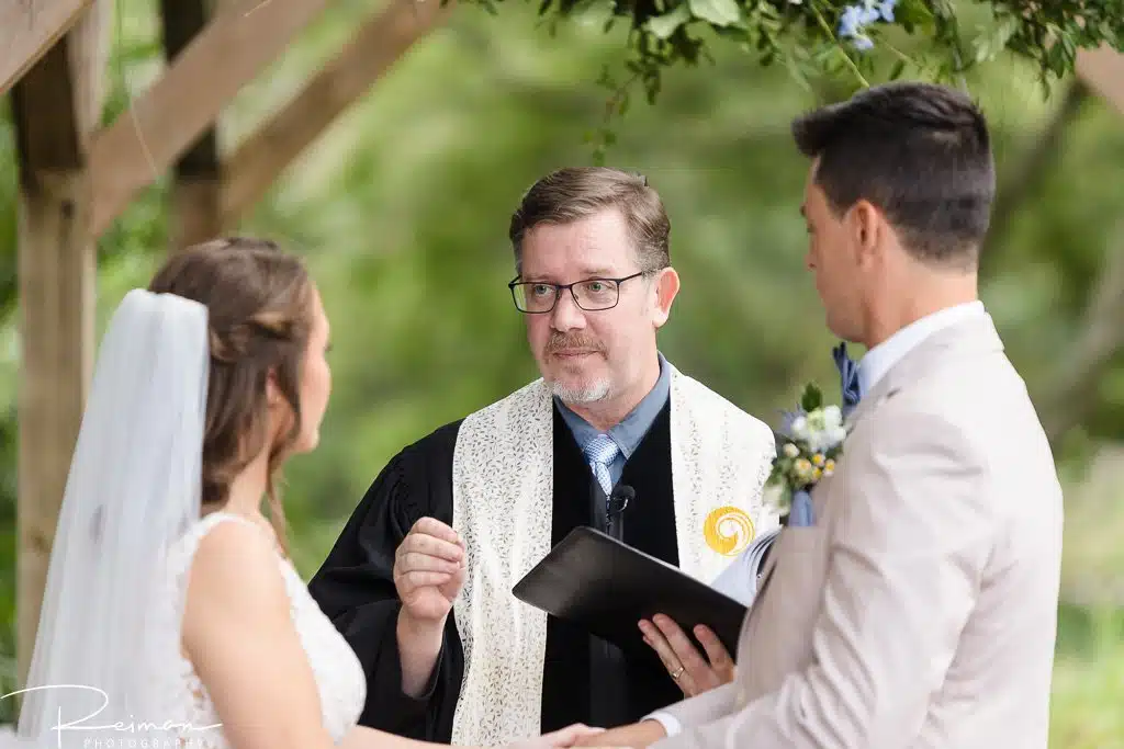
M 199 520 L 208 372 L 206 307 L 125 296 L 98 355 L 20 695 L 19 733 L 40 746 L 98 746 L 81 729 L 56 737 L 60 722 L 160 721 L 144 714 L 146 604 L 165 550 Z

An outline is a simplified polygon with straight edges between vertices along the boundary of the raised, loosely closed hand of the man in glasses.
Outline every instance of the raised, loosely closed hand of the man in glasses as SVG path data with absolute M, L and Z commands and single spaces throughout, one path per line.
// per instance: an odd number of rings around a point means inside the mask
M 464 585 L 464 542 L 434 518 L 422 518 L 395 552 L 395 587 L 402 614 L 441 628 Z

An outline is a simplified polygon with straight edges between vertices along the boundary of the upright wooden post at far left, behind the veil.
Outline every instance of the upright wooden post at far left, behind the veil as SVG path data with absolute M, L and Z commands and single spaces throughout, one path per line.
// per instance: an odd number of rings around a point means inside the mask
M 98 0 L 106 3 L 111 0 Z M 20 165 L 20 344 L 17 668 L 38 629 L 51 549 L 94 349 L 96 243 L 89 130 L 102 86 L 96 62 L 105 8 L 92 9 L 12 88 Z M 87 79 L 83 81 L 83 79 Z

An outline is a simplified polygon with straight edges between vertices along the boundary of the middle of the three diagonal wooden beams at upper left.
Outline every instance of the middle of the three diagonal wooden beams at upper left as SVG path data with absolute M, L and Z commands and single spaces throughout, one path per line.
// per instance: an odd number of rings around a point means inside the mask
M 242 0 L 220 6 L 164 75 L 94 137 L 94 236 L 207 130 L 328 1 Z

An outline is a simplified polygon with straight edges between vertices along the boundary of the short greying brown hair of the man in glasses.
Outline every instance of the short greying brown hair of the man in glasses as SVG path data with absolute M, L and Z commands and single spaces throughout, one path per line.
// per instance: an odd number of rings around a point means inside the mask
M 616 208 L 624 216 L 642 271 L 659 271 L 671 264 L 671 221 L 647 177 L 611 167 L 573 166 L 552 172 L 532 185 L 511 214 L 508 236 L 516 273 L 523 272 L 523 239 L 527 231 L 541 223 L 578 221 L 606 208 Z

